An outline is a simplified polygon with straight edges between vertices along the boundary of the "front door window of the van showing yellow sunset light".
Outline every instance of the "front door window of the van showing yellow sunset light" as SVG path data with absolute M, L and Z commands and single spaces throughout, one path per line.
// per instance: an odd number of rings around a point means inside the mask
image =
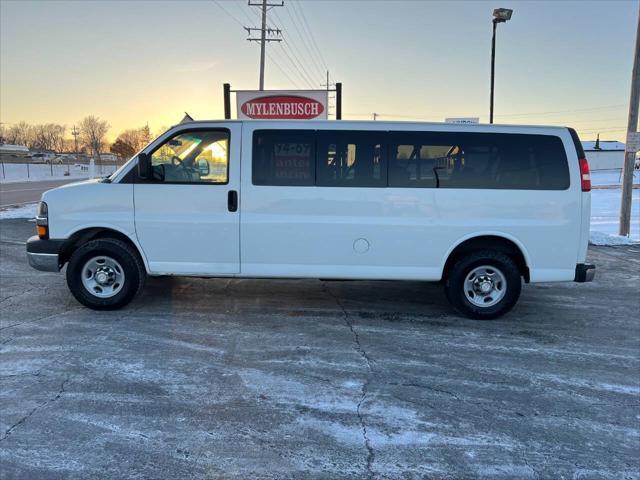
M 226 184 L 229 131 L 194 130 L 171 137 L 151 154 L 153 183 Z

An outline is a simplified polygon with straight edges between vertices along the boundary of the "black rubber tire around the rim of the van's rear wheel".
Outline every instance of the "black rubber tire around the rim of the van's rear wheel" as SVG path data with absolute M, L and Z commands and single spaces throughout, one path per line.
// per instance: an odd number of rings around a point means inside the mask
M 502 274 L 506 285 L 502 298 L 497 303 L 489 306 L 479 306 L 472 303 L 467 297 L 475 295 L 473 291 L 469 295 L 465 293 L 465 280 L 474 269 L 488 266 L 498 270 Z M 453 307 L 463 315 L 477 320 L 492 320 L 498 318 L 509 310 L 518 301 L 522 290 L 522 278 L 518 266 L 511 257 L 494 250 L 478 250 L 460 257 L 448 272 L 445 282 L 445 293 Z M 482 302 L 484 297 L 478 295 L 477 302 Z M 489 298 L 489 301 L 491 298 Z

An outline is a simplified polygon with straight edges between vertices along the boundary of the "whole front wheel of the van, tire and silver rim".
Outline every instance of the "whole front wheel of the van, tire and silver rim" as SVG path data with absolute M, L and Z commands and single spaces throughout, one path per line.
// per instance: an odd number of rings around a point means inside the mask
M 78 248 L 67 265 L 73 296 L 94 310 L 114 310 L 142 289 L 145 270 L 137 252 L 115 238 L 101 238 Z

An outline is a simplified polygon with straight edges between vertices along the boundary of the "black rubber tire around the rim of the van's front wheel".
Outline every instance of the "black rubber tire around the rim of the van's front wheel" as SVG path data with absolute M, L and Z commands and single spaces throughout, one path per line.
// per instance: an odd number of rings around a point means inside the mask
M 109 298 L 100 298 L 87 290 L 82 281 L 85 264 L 97 256 L 114 259 L 124 272 L 120 290 Z M 138 252 L 129 244 L 115 238 L 91 240 L 79 247 L 67 264 L 67 285 L 73 296 L 93 310 L 116 310 L 129 303 L 142 290 L 146 271 Z

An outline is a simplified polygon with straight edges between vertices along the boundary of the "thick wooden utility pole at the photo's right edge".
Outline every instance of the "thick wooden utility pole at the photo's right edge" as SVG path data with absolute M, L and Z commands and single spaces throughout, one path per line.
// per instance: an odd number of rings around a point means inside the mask
M 631 71 L 631 95 L 629 98 L 629 120 L 627 122 L 627 142 L 624 151 L 624 172 L 622 177 L 622 200 L 620 201 L 620 226 L 618 233 L 631 233 L 631 197 L 633 193 L 633 168 L 638 149 L 638 106 L 640 104 L 640 7 L 636 27 L 636 51 Z M 635 137 L 635 138 L 633 138 Z

